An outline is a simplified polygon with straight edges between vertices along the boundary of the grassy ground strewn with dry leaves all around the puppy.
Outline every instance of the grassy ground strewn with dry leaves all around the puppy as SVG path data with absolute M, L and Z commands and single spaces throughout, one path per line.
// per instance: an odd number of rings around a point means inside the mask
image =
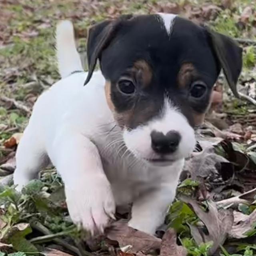
M 0 10 L 0 256 L 256 255 L 254 0 L 2 0 Z M 70 221 L 54 168 L 43 170 L 22 194 L 15 192 L 15 150 L 36 98 L 59 78 L 56 21 L 74 22 L 84 59 L 89 25 L 124 13 L 154 12 L 182 14 L 236 38 L 244 48 L 241 99 L 232 97 L 220 76 L 157 237 L 128 228 L 123 215 L 105 236 L 91 239 Z

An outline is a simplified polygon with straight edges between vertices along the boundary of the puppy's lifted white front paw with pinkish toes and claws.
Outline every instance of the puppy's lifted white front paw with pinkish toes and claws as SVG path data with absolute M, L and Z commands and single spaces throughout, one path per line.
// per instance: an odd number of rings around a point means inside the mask
M 76 188 L 66 187 L 65 192 L 72 221 L 91 235 L 103 233 L 115 213 L 110 185 L 84 184 Z

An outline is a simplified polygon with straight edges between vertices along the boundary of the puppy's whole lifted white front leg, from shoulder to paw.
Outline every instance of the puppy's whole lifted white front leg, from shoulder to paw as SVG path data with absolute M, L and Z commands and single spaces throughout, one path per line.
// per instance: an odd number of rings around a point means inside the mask
M 54 144 L 71 219 L 92 234 L 102 232 L 114 216 L 115 202 L 98 149 L 88 138 L 74 133 L 62 134 Z

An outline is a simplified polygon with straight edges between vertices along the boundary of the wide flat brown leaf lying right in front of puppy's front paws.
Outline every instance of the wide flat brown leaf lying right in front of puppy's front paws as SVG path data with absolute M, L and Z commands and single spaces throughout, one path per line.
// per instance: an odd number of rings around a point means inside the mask
M 147 252 L 160 248 L 161 239 L 146 234 L 142 231 L 135 230 L 127 225 L 124 221 L 118 221 L 106 229 L 108 239 L 117 241 L 120 247 L 131 245 L 130 253 L 139 251 Z

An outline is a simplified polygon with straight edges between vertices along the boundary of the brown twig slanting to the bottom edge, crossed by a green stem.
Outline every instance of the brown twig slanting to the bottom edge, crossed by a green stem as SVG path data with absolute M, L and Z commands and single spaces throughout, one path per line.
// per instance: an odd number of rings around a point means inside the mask
M 48 230 L 48 228 L 43 226 L 38 221 L 32 222 L 30 225 L 31 225 L 32 228 L 42 232 L 45 235 L 52 235 L 52 232 L 50 232 L 50 230 Z M 56 244 L 60 244 L 64 248 L 74 252 L 75 254 L 77 254 L 79 256 L 84 256 L 84 255 L 81 254 L 81 252 L 79 251 L 79 249 L 77 247 L 72 246 L 71 244 L 68 244 L 67 242 L 62 241 L 60 238 L 54 238 L 54 239 L 52 239 L 52 241 L 54 241 Z M 92 256 L 92 254 L 90 254 L 89 252 L 86 252 L 86 256 Z

